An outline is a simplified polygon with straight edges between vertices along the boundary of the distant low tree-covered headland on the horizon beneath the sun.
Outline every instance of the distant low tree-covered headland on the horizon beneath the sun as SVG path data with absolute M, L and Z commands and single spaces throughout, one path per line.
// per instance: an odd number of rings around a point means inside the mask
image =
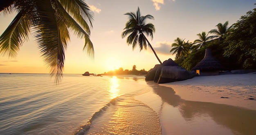
M 108 71 L 104 72 L 103 75 L 146 75 L 148 71 L 145 71 L 145 69 L 137 70 L 136 65 L 132 66 L 132 70 L 124 70 L 122 67 L 119 69 L 116 69 L 114 71 Z

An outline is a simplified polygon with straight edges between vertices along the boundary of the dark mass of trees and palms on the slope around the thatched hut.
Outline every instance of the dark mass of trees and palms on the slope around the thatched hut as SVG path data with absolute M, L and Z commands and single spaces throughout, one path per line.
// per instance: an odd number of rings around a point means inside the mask
M 224 66 L 223 70 L 256 69 L 256 9 L 248 11 L 230 27 L 228 21 L 219 23 L 216 27 L 217 29 L 209 31 L 213 34 L 211 36 L 206 32 L 199 33 L 199 39 L 192 43 L 184 58 L 178 57 L 182 56 L 182 51 L 178 50 L 184 50 L 184 42 L 177 38 L 177 42 L 175 40 L 173 43 L 175 48 L 171 49 L 171 52 L 177 53 L 175 62 L 191 70 L 204 58 L 205 49 L 211 48 L 213 57 Z

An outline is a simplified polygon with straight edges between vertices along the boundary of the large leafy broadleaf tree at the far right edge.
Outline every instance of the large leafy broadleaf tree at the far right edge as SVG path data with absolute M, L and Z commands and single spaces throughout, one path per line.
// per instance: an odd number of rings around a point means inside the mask
M 225 57 L 236 56 L 245 69 L 256 68 L 256 9 L 243 15 L 224 38 Z

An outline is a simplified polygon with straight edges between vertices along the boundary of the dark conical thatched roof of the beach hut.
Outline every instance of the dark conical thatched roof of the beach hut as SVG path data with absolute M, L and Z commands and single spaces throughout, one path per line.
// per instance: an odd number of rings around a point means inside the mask
M 223 69 L 220 62 L 213 58 L 211 55 L 211 49 L 207 48 L 205 49 L 205 55 L 204 58 L 197 64 L 195 67 L 193 67 L 191 70 L 221 70 Z

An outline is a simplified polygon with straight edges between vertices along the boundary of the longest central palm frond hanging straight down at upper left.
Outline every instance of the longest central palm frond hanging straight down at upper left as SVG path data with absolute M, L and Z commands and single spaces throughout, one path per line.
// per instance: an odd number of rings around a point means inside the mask
M 50 0 L 37 0 L 35 8 L 39 18 L 35 22 L 35 38 L 38 48 L 47 66 L 51 67 L 51 76 L 55 77 L 55 83 L 59 84 L 63 75 L 65 46 L 60 40 L 61 34 L 54 9 L 52 9 Z

